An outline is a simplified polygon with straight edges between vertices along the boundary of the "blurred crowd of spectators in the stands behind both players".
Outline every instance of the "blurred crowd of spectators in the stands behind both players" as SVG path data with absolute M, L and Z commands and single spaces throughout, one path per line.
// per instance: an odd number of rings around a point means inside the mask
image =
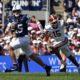
M 1 5 L 0 8 L 2 8 Z M 80 55 L 80 0 L 64 0 L 63 8 L 64 15 L 58 15 L 58 19 L 64 23 L 64 32 L 68 37 L 71 51 L 75 55 Z M 0 15 L 2 16 L 1 9 Z M 44 27 L 35 15 L 30 17 L 28 33 L 31 38 L 31 48 L 36 55 L 50 55 L 52 53 L 49 44 L 52 44 L 54 39 L 51 38 L 50 34 L 45 33 Z M 4 31 L 5 28 L 3 28 L 2 19 L 0 18 L 0 45 L 6 49 L 10 37 L 5 37 Z

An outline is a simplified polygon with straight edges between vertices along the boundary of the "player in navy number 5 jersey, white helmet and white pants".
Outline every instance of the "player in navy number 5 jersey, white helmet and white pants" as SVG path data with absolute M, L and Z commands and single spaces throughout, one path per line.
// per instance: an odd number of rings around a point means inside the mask
M 13 15 L 8 19 L 8 25 L 5 30 L 5 33 L 7 34 L 10 32 L 10 34 L 12 35 L 12 40 L 9 46 L 9 54 L 13 61 L 13 67 L 7 69 L 6 72 L 18 70 L 14 50 L 21 48 L 21 50 L 26 53 L 27 56 L 29 56 L 32 60 L 36 61 L 46 70 L 47 76 L 50 76 L 51 66 L 48 66 L 43 63 L 40 58 L 36 57 L 35 54 L 33 54 L 33 51 L 30 48 L 30 39 L 27 30 L 27 23 L 29 20 L 28 16 L 21 14 L 20 5 L 14 6 L 12 12 Z

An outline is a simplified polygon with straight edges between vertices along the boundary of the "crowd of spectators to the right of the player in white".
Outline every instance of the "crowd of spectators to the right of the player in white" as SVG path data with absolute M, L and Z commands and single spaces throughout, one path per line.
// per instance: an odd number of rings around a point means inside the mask
M 80 54 L 80 0 L 64 0 L 63 8 L 70 49 Z

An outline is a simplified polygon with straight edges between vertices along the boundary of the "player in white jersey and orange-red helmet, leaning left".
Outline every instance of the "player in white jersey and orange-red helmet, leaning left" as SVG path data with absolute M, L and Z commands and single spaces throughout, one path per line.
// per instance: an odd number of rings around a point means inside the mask
M 68 47 L 68 39 L 64 33 L 64 25 L 61 23 L 61 21 L 58 20 L 57 16 L 49 16 L 49 23 L 45 26 L 45 29 L 51 33 L 54 39 L 51 47 L 59 51 L 61 50 L 65 56 L 75 64 L 75 66 L 78 68 L 78 72 L 80 73 L 80 65 L 77 63 L 76 59 L 73 56 L 73 53 Z

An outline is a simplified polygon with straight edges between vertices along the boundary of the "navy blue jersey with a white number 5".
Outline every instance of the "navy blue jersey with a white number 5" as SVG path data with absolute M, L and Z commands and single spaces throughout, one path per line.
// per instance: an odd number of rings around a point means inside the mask
M 10 16 L 8 22 L 15 24 L 16 37 L 23 37 L 28 34 L 27 22 L 29 18 L 27 15 L 20 15 L 19 17 Z

